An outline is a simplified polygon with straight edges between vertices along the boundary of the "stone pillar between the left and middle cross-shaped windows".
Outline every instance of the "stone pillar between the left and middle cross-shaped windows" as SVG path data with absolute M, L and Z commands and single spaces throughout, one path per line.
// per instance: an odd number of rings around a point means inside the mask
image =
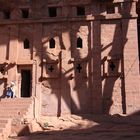
M 66 29 L 70 28 L 70 24 L 63 26 L 62 31 L 62 42 L 66 49 L 62 49 L 61 58 L 60 58 L 60 73 L 61 73 L 61 82 L 60 82 L 60 96 L 61 96 L 61 115 L 71 113 L 71 84 L 72 80 L 70 79 L 71 69 L 73 69 L 72 64 L 68 64 L 71 59 L 71 36 L 70 31 L 65 32 Z

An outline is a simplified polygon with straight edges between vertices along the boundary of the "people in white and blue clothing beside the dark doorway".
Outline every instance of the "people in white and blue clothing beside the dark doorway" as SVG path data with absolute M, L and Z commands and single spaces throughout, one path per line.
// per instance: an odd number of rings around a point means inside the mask
M 6 98 L 15 98 L 16 97 L 16 85 L 15 82 L 11 82 L 6 88 Z

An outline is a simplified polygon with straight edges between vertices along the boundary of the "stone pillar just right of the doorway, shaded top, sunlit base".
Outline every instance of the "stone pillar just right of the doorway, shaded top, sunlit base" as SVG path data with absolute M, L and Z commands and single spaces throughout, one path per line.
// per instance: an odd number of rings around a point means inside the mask
M 33 79 L 32 95 L 34 97 L 34 117 L 38 119 L 41 112 L 41 59 L 42 59 L 42 24 L 35 24 L 33 31 Z

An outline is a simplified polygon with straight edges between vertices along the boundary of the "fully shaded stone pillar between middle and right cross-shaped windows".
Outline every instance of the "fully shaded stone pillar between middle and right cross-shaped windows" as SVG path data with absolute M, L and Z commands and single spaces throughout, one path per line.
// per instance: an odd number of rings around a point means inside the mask
M 91 22 L 93 113 L 102 113 L 101 23 Z

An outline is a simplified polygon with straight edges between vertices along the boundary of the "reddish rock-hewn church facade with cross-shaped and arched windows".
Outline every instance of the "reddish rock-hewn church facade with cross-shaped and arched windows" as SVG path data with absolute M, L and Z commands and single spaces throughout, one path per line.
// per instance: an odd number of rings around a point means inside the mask
M 137 0 L 0 3 L 1 96 L 15 81 L 37 116 L 140 110 Z

